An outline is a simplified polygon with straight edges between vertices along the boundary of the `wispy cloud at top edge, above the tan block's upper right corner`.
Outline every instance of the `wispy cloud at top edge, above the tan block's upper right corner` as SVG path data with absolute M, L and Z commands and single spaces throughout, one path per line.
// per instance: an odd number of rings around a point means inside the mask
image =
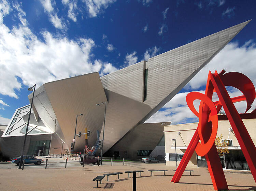
M 114 3 L 116 0 L 83 0 L 89 11 L 89 17 L 97 17 L 103 12 L 103 9 Z

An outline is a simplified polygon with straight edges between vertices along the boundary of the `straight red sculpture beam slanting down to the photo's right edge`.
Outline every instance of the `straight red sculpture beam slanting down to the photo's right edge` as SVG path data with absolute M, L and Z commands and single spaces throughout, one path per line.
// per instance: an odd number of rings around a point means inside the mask
M 250 167 L 253 178 L 256 182 L 256 148 L 255 145 L 242 122 L 232 100 L 230 99 L 228 92 L 222 83 L 217 72 L 211 75 L 211 81 L 213 86 L 218 94 L 219 100 L 221 101 L 223 108 L 226 112 L 227 118 L 230 122 L 231 127 L 233 128 L 234 134 L 241 146 L 244 157 Z

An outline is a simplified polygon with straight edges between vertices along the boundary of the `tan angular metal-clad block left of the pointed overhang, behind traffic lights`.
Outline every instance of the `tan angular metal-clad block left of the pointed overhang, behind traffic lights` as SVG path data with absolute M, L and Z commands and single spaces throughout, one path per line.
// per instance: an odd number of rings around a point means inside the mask
M 71 77 L 43 85 L 53 107 L 56 118 L 63 133 L 63 140 L 69 144 L 74 138 L 76 115 L 76 134 L 91 131 L 88 144 L 94 145 L 97 140 L 96 131 L 101 131 L 104 120 L 104 109 L 96 107 L 97 103 L 105 102 L 106 96 L 99 78 L 99 73 Z M 84 151 L 85 135 L 76 137 L 75 148 Z

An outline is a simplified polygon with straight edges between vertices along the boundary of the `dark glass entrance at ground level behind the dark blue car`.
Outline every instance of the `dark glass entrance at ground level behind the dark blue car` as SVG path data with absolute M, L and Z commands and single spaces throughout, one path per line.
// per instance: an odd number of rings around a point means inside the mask
M 48 156 L 50 150 L 50 143 L 51 140 L 30 141 L 28 155 L 38 156 L 39 154 L 40 156 Z

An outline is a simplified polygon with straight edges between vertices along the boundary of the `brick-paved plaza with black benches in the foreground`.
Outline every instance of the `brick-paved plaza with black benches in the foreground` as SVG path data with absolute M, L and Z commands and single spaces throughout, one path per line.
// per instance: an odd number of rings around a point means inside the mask
M 110 187 L 111 190 L 132 190 L 132 174 L 128 178 L 125 171 L 144 170 L 137 173 L 137 190 L 160 191 L 160 190 L 214 190 L 211 177 L 207 168 L 189 168 L 194 170 L 184 172 L 180 183 L 170 183 L 175 167 L 168 167 L 165 163 L 147 164 L 141 162 L 103 162 L 102 166 L 85 165 L 82 167 L 78 161 L 70 160 L 67 168 L 63 159 L 49 159 L 47 169 L 45 162 L 40 166 L 25 165 L 24 170 L 17 169 L 12 163 L 0 164 L 0 189 L 1 190 L 103 190 Z M 147 170 L 166 169 L 168 172 L 151 172 Z M 109 176 L 96 187 L 96 176 L 112 172 L 123 172 L 118 175 Z M 256 184 L 250 171 L 225 171 L 229 190 L 256 190 Z

